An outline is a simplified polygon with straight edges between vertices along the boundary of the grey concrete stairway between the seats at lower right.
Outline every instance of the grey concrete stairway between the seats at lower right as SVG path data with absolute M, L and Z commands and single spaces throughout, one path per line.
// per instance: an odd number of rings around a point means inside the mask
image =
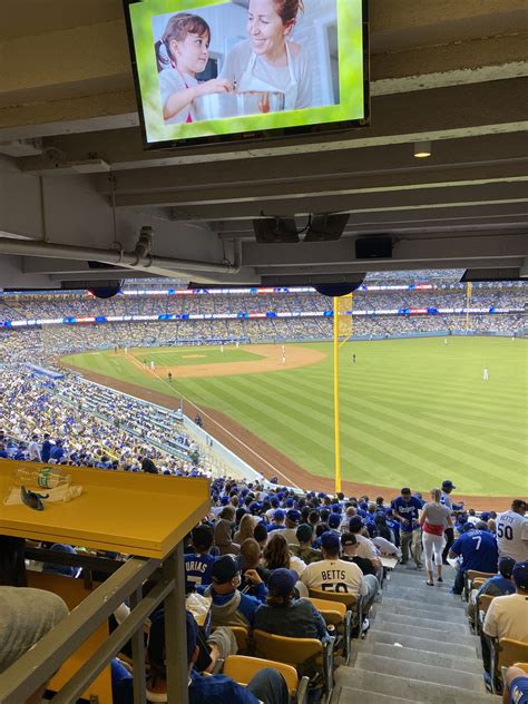
M 479 639 L 471 635 L 460 597 L 426 573 L 398 567 L 371 613 L 364 641 L 354 641 L 349 667 L 335 673 L 332 704 L 500 704 L 483 684 Z

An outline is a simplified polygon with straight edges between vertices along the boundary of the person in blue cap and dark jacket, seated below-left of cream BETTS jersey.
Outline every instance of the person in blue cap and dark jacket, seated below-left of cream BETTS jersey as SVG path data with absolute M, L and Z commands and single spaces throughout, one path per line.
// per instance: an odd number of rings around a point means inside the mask
M 296 598 L 297 573 L 274 569 L 267 580 L 267 599 L 256 609 L 255 628 L 286 638 L 327 641 L 323 617 L 309 599 Z

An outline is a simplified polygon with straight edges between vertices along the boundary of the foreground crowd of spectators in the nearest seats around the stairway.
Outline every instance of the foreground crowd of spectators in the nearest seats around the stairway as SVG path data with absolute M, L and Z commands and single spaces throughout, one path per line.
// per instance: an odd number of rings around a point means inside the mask
M 371 500 L 368 496 L 301 493 L 273 481 L 265 485 L 215 479 L 211 487 L 211 510 L 186 537 L 184 547 L 186 590 L 193 595 L 193 604 L 196 599 L 202 604 L 201 597 L 208 599 L 209 609 L 206 626 L 198 628 L 192 613 L 195 607 L 188 602 L 189 701 L 208 702 L 208 696 L 222 696 L 235 704 L 257 701 L 287 704 L 285 683 L 274 669 L 261 671 L 247 688 L 221 674 L 225 658 L 238 649 L 232 627 L 289 638 L 315 638 L 336 657 L 345 656 L 348 642 L 343 632 L 326 624 L 311 597 L 321 593 L 352 595 L 354 632 L 364 637 L 371 608 L 382 599 L 385 557 L 394 557 L 408 568 L 424 567 L 424 579 L 430 586 L 443 581 L 444 565 L 454 565 L 454 595 L 467 589 L 467 575 L 471 570 L 486 575 L 478 588 L 469 590 L 468 598 L 470 618 L 475 622 L 480 618 L 475 608 L 477 599 L 481 595 L 493 597 L 481 623 L 485 678 L 489 682 L 490 639 L 511 637 L 528 644 L 527 503 L 516 499 L 508 511 L 477 516 L 453 500 L 454 489 L 446 480 L 441 489 L 432 489 L 427 498 L 403 488 L 392 500 L 383 497 Z M 43 547 L 76 550 L 75 546 Z M 31 568 L 80 576 L 78 570 L 65 566 L 32 564 Z M 19 565 L 18 569 L 13 576 L 3 560 L 0 583 L 23 585 L 26 566 Z M 6 589 L 10 591 L 2 591 Z M 12 586 L 0 587 L 0 608 L 2 597 L 10 597 L 12 589 Z M 20 604 L 23 591 L 16 594 Z M 27 593 L 28 600 L 35 599 L 33 590 Z M 21 608 L 17 605 L 17 613 Z M 126 612 L 126 606 L 123 608 Z M 49 602 L 42 602 L 38 613 L 30 609 L 25 614 L 26 619 L 35 623 L 30 628 L 23 626 L 23 643 L 17 644 L 13 652 L 0 648 L 0 671 L 66 613 L 50 597 Z M 115 616 L 118 622 L 123 618 L 117 612 Z M 9 617 L 12 623 L 11 612 Z M 150 616 L 147 647 L 150 666 L 147 698 L 153 702 L 166 701 L 164 623 L 162 605 Z M 125 657 L 126 654 L 119 654 L 119 658 Z M 205 677 L 204 673 L 211 676 Z M 313 692 L 321 691 L 324 681 L 317 665 L 303 666 L 301 674 L 310 677 Z M 129 669 L 120 659 L 114 661 L 115 702 L 131 703 L 131 683 Z

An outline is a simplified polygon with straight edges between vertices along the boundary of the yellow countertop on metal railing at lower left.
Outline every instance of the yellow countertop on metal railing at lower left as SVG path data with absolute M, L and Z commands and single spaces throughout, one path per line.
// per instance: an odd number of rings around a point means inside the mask
M 104 469 L 60 467 L 82 495 L 45 503 L 43 511 L 6 506 L 18 467 L 45 465 L 0 460 L 0 534 L 164 558 L 207 514 L 209 480 Z M 45 490 L 41 490 L 45 493 Z

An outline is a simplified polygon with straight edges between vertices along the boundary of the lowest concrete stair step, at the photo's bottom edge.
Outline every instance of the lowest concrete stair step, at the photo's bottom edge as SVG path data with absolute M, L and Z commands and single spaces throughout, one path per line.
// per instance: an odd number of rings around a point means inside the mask
M 400 698 L 408 702 L 423 702 L 427 704 L 460 704 L 460 702 L 463 702 L 463 704 L 498 704 L 499 702 L 496 696 L 483 692 L 467 692 L 463 688 L 446 684 L 421 682 L 383 673 L 375 673 L 374 675 L 365 669 L 354 669 L 346 666 L 341 666 L 336 669 L 335 678 L 336 683 L 343 688 L 360 690 L 387 696 L 393 696 L 397 693 Z M 343 703 L 348 701 L 353 702 L 354 700 L 346 700 L 342 696 Z

